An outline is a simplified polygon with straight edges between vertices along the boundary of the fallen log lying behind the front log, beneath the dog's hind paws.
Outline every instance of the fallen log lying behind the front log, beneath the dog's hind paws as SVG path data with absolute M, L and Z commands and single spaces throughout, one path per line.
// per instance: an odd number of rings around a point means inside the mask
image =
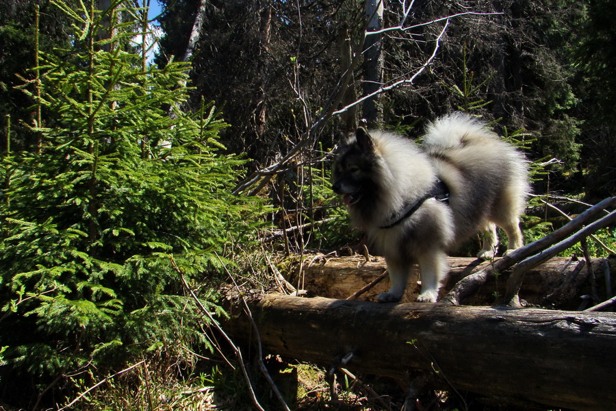
M 497 259 L 498 260 L 498 259 Z M 442 297 L 451 290 L 463 277 L 485 269 L 492 264 L 489 261 L 481 261 L 475 258 L 448 258 L 450 274 L 446 284 L 439 293 Z M 607 265 L 606 265 L 607 264 Z M 301 266 L 301 270 L 299 268 Z M 604 268 L 608 267 L 608 273 L 616 275 L 616 258 L 592 258 L 593 271 L 600 277 L 604 277 Z M 311 295 L 346 299 L 366 284 L 372 282 L 387 269 L 385 259 L 370 257 L 367 261 L 363 256 L 352 257 L 327 257 L 312 256 L 304 258 L 303 264 L 299 262 L 292 266 L 294 278 L 290 279 L 293 284 L 299 284 L 301 288 L 311 292 Z M 611 271 L 610 271 L 611 270 Z M 299 271 L 299 272 L 298 272 Z M 491 306 L 500 303 L 506 290 L 507 277 L 511 270 L 505 271 L 498 276 L 491 276 L 480 290 L 469 297 L 465 303 L 472 306 Z M 601 278 L 600 278 L 601 279 Z M 413 302 L 420 292 L 418 276 L 409 280 L 409 287 L 402 302 Z M 552 258 L 540 266 L 528 271 L 520 297 L 535 306 L 546 308 L 575 310 L 583 302 L 580 296 L 590 292 L 591 278 L 589 278 L 588 265 L 585 260 L 572 258 Z M 600 281 L 602 296 L 611 297 L 613 286 Z M 610 288 L 609 290 L 606 287 Z M 376 301 L 378 293 L 389 289 L 389 279 L 385 278 L 376 284 L 360 299 Z

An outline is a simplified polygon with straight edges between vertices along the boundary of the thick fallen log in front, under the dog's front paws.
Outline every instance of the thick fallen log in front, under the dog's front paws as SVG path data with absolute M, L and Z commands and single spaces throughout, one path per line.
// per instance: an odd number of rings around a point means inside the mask
M 327 367 L 350 357 L 344 368 L 360 373 L 409 380 L 427 371 L 488 397 L 616 409 L 615 313 L 282 295 L 247 302 L 269 353 Z M 235 340 L 254 338 L 241 305 L 226 327 Z

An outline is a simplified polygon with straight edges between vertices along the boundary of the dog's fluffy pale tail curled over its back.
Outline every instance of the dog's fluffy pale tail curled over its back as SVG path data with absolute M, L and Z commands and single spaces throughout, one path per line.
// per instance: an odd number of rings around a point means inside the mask
M 468 114 L 456 112 L 428 125 L 423 141 L 428 149 L 453 149 L 494 136 L 484 123 Z

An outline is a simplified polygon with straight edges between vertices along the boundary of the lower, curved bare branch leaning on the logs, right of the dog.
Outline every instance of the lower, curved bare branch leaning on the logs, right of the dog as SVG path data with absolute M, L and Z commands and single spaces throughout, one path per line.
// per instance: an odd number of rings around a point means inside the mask
M 511 273 L 511 275 L 509 276 L 509 280 L 507 281 L 507 290 L 504 297 L 504 301 L 506 301 L 506 304 L 512 307 L 521 306 L 517 293 L 519 292 L 519 287 L 522 286 L 522 281 L 524 281 L 524 275 L 528 270 L 541 264 L 542 262 L 550 260 L 550 258 L 556 256 L 556 254 L 560 253 L 561 251 L 564 251 L 565 249 L 568 249 L 569 247 L 572 247 L 576 244 L 576 242 L 584 240 L 585 238 L 587 238 L 587 236 L 589 236 L 589 234 L 592 234 L 599 229 L 611 225 L 612 223 L 614 223 L 614 221 L 616 221 L 616 211 L 611 212 L 602 219 L 599 219 L 598 221 L 587 225 L 587 227 L 580 229 L 580 231 L 576 232 L 576 234 L 570 236 L 569 238 L 566 238 L 565 240 L 558 242 L 555 245 L 552 245 L 548 249 L 544 249 L 535 256 L 526 258 L 526 260 L 517 264 L 517 266 L 515 266 L 515 269 L 513 270 L 513 273 Z M 589 256 L 587 256 L 587 259 L 590 260 Z M 590 262 L 588 261 L 587 264 L 590 264 Z M 591 273 L 591 271 L 589 271 L 589 273 Z M 597 291 L 595 284 L 593 294 L 596 295 L 596 293 Z

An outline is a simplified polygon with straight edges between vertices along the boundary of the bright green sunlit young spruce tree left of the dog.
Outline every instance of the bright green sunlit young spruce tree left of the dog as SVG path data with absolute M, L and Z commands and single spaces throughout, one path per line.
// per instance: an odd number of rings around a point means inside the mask
M 96 1 L 54 3 L 72 44 L 42 51 L 21 86 L 31 110 L 53 115 L 27 130 L 39 149 L 7 150 L 0 166 L 0 379 L 17 392 L 207 347 L 170 257 L 222 314 L 226 247 L 254 240 L 264 212 L 230 194 L 244 160 L 220 153 L 216 108 L 181 110 L 188 64 L 146 68 L 134 52 L 140 10 L 97 40 Z

